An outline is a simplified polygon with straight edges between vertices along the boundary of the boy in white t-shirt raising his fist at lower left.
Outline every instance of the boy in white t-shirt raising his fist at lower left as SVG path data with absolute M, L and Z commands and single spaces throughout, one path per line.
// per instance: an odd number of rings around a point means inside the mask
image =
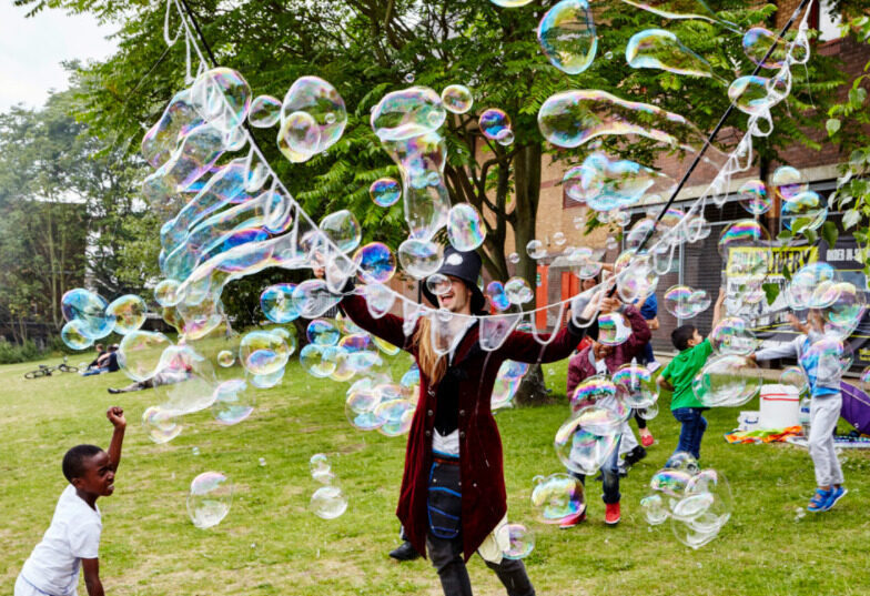
M 127 420 L 120 407 L 105 413 L 114 426 L 109 452 L 78 445 L 63 456 L 63 489 L 51 525 L 16 580 L 14 596 L 75 596 L 79 567 L 84 570 L 89 596 L 103 596 L 100 583 L 100 533 L 103 524 L 97 499 L 114 492 Z

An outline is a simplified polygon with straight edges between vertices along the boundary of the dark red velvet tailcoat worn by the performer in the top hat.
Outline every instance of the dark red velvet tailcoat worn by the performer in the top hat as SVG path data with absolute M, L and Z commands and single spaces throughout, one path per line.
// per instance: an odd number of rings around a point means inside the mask
M 344 297 L 341 306 L 358 326 L 393 345 L 402 346 L 417 358 L 417 347 L 411 344 L 411 336 L 405 337 L 401 317 L 392 314 L 381 319 L 372 317 L 365 299 L 355 294 Z M 466 560 L 507 512 L 502 440 L 489 410 L 499 366 L 505 360 L 534 363 L 565 358 L 583 336 L 581 332 L 571 333 L 565 327 L 553 342 L 543 346 L 530 333 L 515 331 L 498 350 L 484 352 L 477 345 L 478 329 L 479 324 L 468 330 L 456 348 L 452 364 L 452 367 L 458 367 L 464 373 L 459 381 L 458 430 L 462 537 Z M 429 386 L 429 380 L 421 371 L 419 402 L 408 434 L 402 494 L 396 509 L 411 544 L 424 556 L 428 532 L 426 499 L 432 467 L 432 433 L 438 406 L 436 395 L 437 386 Z

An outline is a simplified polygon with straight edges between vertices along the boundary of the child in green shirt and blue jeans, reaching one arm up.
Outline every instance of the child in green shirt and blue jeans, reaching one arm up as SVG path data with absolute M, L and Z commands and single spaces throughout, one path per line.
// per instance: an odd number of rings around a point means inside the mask
M 725 291 L 720 289 L 712 310 L 712 327 L 716 327 L 721 319 L 722 302 L 725 302 Z M 659 387 L 674 392 L 670 398 L 670 412 L 682 424 L 675 453 L 687 452 L 696 459 L 700 459 L 701 437 L 707 430 L 707 420 L 701 414 L 709 408 L 704 407 L 695 396 L 691 382 L 712 354 L 712 346 L 710 339 L 701 337 L 698 329 L 691 324 L 675 329 L 670 340 L 674 342 L 674 347 L 679 350 L 679 354 L 668 363 L 657 383 Z

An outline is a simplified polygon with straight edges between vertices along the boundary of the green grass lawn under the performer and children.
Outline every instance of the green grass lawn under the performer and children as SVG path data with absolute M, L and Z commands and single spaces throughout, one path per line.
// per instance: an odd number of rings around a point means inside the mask
M 396 358 L 395 378 L 406 366 L 404 356 Z M 554 394 L 564 393 L 565 366 L 545 366 Z M 387 557 L 398 544 L 393 512 L 405 438 L 354 430 L 344 415 L 346 384 L 312 378 L 292 364 L 281 385 L 259 393 L 255 413 L 243 423 L 224 427 L 199 413 L 185 420 L 174 441 L 155 445 L 140 424 L 143 410 L 159 402 L 154 391 L 109 395 L 108 386 L 128 383 L 122 373 L 26 381 L 22 374 L 34 367 L 0 367 L 0 592 L 11 593 L 48 527 L 64 487 L 63 453 L 78 443 L 108 446 L 105 410 L 122 405 L 129 427 L 117 488 L 99 502 L 107 594 L 441 594 L 427 562 L 399 565 Z M 711 544 L 691 550 L 675 539 L 669 524 L 649 527 L 638 504 L 676 446 L 678 425 L 669 397 L 662 396 L 660 414 L 650 423 L 657 443 L 621 485 L 621 523 L 604 525 L 600 484 L 590 482 L 589 521 L 559 531 L 537 523 L 529 503 L 533 477 L 562 471 L 553 436 L 568 410 L 564 395 L 556 402 L 496 415 L 509 516 L 537 533 L 526 565 L 538 594 L 870 592 L 870 456 L 842 454 L 849 495 L 829 513 L 798 519 L 796 509 L 806 506 L 815 484 L 807 452 L 728 445 L 722 434 L 736 426 L 738 411 L 708 412 L 702 464 L 727 476 L 735 511 Z M 320 486 L 311 478 L 308 458 L 318 452 L 328 455 L 350 497 L 347 512 L 333 521 L 307 508 Z M 188 519 L 185 496 L 191 479 L 209 469 L 230 475 L 236 493 L 223 523 L 202 531 Z M 478 594 L 504 593 L 479 558 L 469 570 Z M 79 594 L 87 594 L 83 586 Z

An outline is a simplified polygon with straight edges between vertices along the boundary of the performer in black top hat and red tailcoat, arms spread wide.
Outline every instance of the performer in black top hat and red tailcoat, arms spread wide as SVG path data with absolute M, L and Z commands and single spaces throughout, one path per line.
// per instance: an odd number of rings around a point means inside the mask
M 530 333 L 505 329 L 496 340 L 488 324 L 471 316 L 486 314 L 486 299 L 477 287 L 480 264 L 477 253 L 447 248 L 438 271 L 445 276 L 437 284 L 438 295 L 423 284 L 426 299 L 449 312 L 446 321 L 443 313 L 421 316 L 406 330 L 406 322 L 393 314 L 376 319 L 350 283 L 340 305 L 365 331 L 408 351 L 419 366 L 419 401 L 408 434 L 396 512 L 407 539 L 421 554 L 428 546 L 447 596 L 471 596 L 465 563 L 475 552 L 509 596 L 532 596 L 535 589 L 523 562 L 503 556 L 506 533 L 498 529 L 507 523 L 507 495 L 502 441 L 490 411 L 493 385 L 505 360 L 534 363 L 565 358 L 585 330 L 569 320 L 547 345 Z M 314 274 L 323 276 L 324 270 L 314 267 Z M 571 309 L 581 324 L 595 314 L 586 302 Z M 437 335 L 446 340 L 444 344 L 433 339 L 435 324 Z

